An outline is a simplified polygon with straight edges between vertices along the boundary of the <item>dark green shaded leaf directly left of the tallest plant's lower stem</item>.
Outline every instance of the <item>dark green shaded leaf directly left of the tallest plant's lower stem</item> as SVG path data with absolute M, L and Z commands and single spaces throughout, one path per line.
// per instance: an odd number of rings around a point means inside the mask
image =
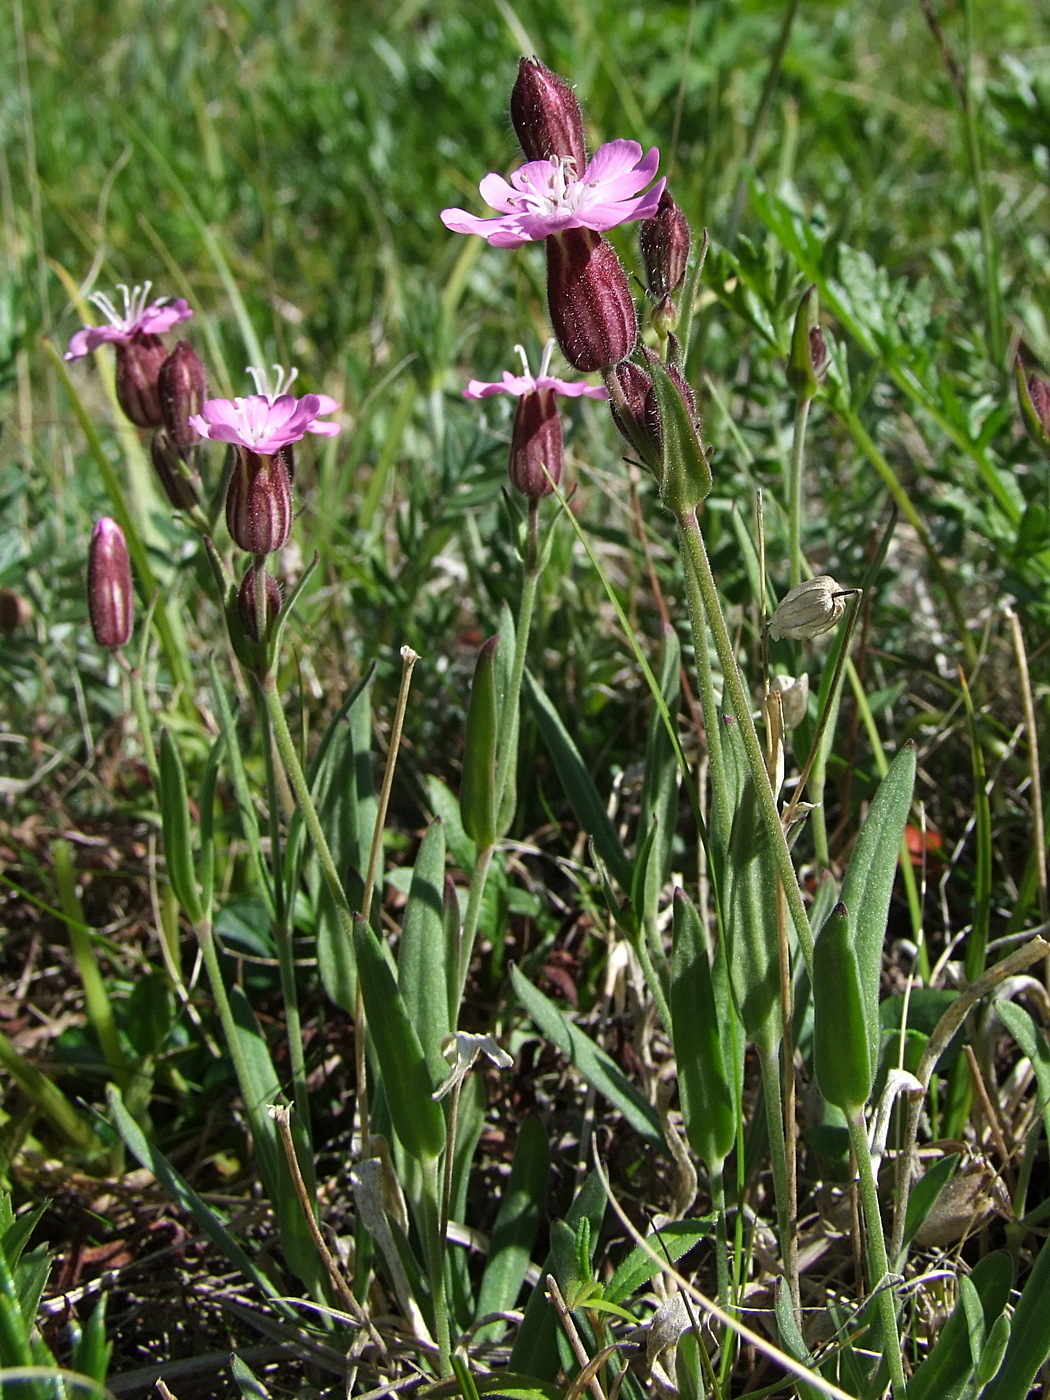
M 725 1060 L 707 935 L 685 890 L 675 890 L 671 953 L 671 1039 L 689 1145 L 717 1168 L 736 1138 L 736 1110 Z

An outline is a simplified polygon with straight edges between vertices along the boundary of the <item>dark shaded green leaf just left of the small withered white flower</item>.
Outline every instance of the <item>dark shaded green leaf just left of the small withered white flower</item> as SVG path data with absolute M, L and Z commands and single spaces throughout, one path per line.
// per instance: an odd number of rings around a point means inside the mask
M 431 1098 L 435 1085 L 427 1057 L 379 939 L 360 917 L 354 918 L 354 952 L 393 1131 L 417 1162 L 433 1162 L 445 1147 L 445 1114 Z

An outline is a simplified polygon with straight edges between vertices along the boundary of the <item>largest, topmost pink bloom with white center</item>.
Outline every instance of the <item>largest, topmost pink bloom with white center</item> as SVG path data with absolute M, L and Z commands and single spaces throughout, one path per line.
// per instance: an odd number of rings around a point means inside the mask
M 624 140 L 599 146 L 580 178 L 568 157 L 529 161 L 510 182 L 491 174 L 479 186 L 486 203 L 503 217 L 477 218 L 463 209 L 445 209 L 441 221 L 454 234 L 480 234 L 493 248 L 521 248 L 567 228 L 602 234 L 657 213 L 666 182 L 659 179 L 652 189 L 640 192 L 658 165 L 655 146 L 643 155 L 637 141 Z

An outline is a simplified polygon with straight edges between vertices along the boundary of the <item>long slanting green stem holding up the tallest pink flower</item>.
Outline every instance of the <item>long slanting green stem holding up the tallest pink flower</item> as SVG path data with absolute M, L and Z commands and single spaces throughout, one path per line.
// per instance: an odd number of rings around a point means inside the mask
M 732 638 L 729 637 L 729 629 L 725 626 L 725 617 L 722 616 L 722 610 L 718 603 L 718 591 L 714 582 L 714 574 L 711 573 L 711 561 L 707 557 L 707 547 L 704 546 L 704 538 L 700 532 L 700 522 L 696 518 L 696 512 L 679 515 L 678 526 L 686 560 L 686 574 L 693 571 L 696 575 L 696 582 L 703 598 L 707 624 L 711 629 L 715 651 L 718 652 L 718 661 L 722 668 L 724 685 L 728 690 L 734 714 L 741 728 L 748 764 L 755 783 L 762 823 L 766 829 L 766 836 L 770 843 L 770 848 L 773 850 L 777 869 L 780 871 L 784 895 L 787 896 L 791 918 L 795 925 L 795 932 L 798 934 L 798 942 L 802 948 L 802 956 L 805 958 L 806 967 L 812 967 L 813 934 L 809 928 L 809 917 L 806 914 L 805 904 L 802 903 L 802 893 L 798 888 L 795 868 L 791 864 L 791 851 L 788 850 L 784 827 L 781 826 L 780 813 L 777 812 L 777 802 L 773 797 L 773 788 L 770 787 L 769 774 L 766 771 L 762 743 L 759 742 L 759 734 L 755 728 L 755 720 L 750 713 L 750 700 L 743 689 L 743 679 L 741 676 L 739 666 L 736 665 L 736 654 L 734 651 Z

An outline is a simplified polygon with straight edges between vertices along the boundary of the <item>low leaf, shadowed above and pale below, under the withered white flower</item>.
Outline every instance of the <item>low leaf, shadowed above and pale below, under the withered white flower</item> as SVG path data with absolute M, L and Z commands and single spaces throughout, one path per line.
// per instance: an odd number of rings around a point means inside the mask
M 549 1173 L 547 1130 L 535 1114 L 529 1114 L 518 1130 L 511 1175 L 500 1200 L 477 1294 L 476 1317 L 505 1312 L 518 1301 L 546 1203 Z M 497 1322 L 480 1327 L 475 1341 L 497 1341 L 504 1326 Z

